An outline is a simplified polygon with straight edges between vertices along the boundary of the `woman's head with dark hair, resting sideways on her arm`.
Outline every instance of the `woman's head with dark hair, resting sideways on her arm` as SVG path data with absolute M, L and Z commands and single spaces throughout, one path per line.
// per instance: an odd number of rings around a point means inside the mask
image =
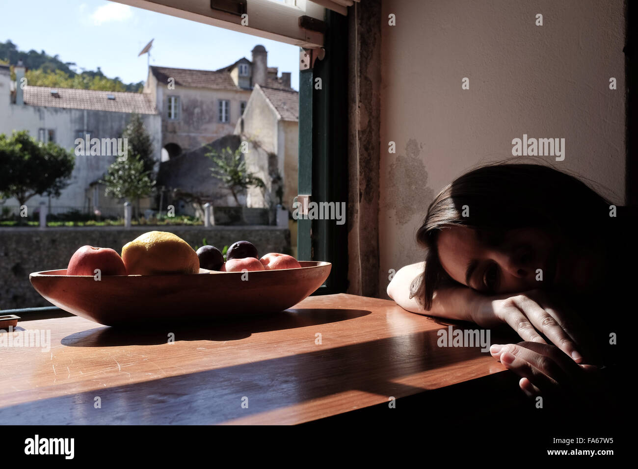
M 471 170 L 434 198 L 417 232 L 427 254 L 416 295 L 429 309 L 434 291 L 454 283 L 486 294 L 549 287 L 560 280 L 561 246 L 595 232 L 608 211 L 595 191 L 551 167 Z

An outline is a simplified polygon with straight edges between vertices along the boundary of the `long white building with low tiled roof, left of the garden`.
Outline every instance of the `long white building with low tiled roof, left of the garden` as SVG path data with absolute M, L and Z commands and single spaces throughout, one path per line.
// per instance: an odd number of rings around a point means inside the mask
M 25 69 L 15 67 L 17 83 Z M 13 130 L 27 130 L 42 141 L 54 141 L 62 147 L 75 149 L 75 139 L 119 138 L 131 113 L 142 116 L 146 131 L 154 145 L 154 158 L 161 158 L 161 117 L 154 101 L 145 93 L 117 93 L 86 89 L 15 86 L 8 65 L 0 65 L 0 133 L 10 135 Z M 117 208 L 117 201 L 107 200 L 103 188 L 93 184 L 101 179 L 116 156 L 76 156 L 70 184 L 59 198 L 34 196 L 27 207 L 38 207 L 41 201 L 50 207 L 50 213 L 72 209 L 93 211 L 98 208 L 107 216 Z M 4 206 L 17 209 L 15 199 L 4 201 Z M 31 212 L 29 210 L 29 212 Z M 117 213 L 119 214 L 119 208 Z

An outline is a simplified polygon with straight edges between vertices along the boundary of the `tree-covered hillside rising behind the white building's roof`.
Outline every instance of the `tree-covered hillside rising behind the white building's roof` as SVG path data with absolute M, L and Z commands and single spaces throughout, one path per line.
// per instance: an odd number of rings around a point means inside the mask
M 133 91 L 142 92 L 144 82 L 126 84 L 119 77 L 108 78 L 98 70 L 82 70 L 80 73 L 74 62 L 63 62 L 57 54 L 49 56 L 44 50 L 37 52 L 18 50 L 10 40 L 0 42 L 0 63 L 11 66 L 11 78 L 15 80 L 13 66 L 22 61 L 26 66 L 27 83 L 31 86 L 48 86 L 54 88 L 96 89 L 101 91 Z

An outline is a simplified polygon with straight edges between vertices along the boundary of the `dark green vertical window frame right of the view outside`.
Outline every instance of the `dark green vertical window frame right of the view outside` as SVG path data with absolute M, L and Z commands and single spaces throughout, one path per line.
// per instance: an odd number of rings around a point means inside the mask
M 311 202 L 345 202 L 336 220 L 298 220 L 299 260 L 332 263 L 315 295 L 348 289 L 348 19 L 326 10 L 325 57 L 299 72 L 299 188 Z M 322 89 L 315 89 L 321 78 Z

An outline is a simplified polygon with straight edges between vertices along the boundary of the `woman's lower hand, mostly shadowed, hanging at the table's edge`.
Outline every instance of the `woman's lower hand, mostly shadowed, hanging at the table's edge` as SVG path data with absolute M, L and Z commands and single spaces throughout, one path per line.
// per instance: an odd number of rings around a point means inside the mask
M 529 397 L 600 391 L 600 368 L 574 362 L 558 347 L 538 342 L 492 345 L 492 356 L 521 376 Z

